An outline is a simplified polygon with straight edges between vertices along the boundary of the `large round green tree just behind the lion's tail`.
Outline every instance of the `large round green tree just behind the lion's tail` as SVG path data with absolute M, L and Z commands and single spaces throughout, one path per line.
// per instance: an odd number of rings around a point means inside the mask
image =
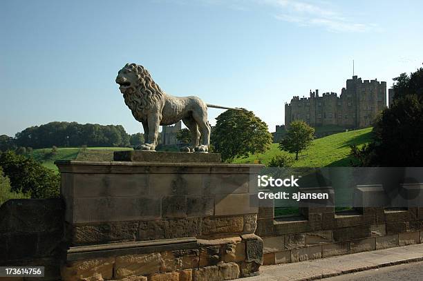
M 272 135 L 252 111 L 229 109 L 216 118 L 211 143 L 214 152 L 232 162 L 235 157 L 265 152 L 272 144 Z

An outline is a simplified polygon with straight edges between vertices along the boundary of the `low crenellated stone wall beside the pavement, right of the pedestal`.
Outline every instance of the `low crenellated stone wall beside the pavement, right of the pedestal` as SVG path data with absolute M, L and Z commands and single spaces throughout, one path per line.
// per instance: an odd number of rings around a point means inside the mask
M 372 191 L 366 196 L 375 194 Z M 259 209 L 256 235 L 263 238 L 263 264 L 417 244 L 423 242 L 423 207 L 367 206 L 340 212 L 333 207 L 300 208 L 298 216 L 274 217 L 274 209 L 267 202 Z

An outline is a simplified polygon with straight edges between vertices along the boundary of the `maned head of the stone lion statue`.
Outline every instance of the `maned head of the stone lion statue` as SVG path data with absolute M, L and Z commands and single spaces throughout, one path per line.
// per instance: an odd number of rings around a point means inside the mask
M 124 95 L 125 104 L 134 116 L 135 112 L 151 108 L 163 95 L 162 89 L 153 81 L 148 70 L 137 64 L 126 64 L 119 70 L 116 83 L 120 85 L 119 90 Z

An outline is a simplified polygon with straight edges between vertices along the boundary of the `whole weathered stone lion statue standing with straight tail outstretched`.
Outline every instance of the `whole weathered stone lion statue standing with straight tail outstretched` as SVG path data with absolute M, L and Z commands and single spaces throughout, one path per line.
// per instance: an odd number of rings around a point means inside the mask
M 238 109 L 205 104 L 194 96 L 167 95 L 153 81 L 147 69 L 137 64 L 126 64 L 119 70 L 116 83 L 120 85 L 119 90 L 123 94 L 126 106 L 131 109 L 133 117 L 141 122 L 144 128 L 145 144 L 140 146 L 142 150 L 155 151 L 159 126 L 175 124 L 182 119 L 191 132 L 191 145 L 183 150 L 207 153 L 210 144 L 207 106 Z

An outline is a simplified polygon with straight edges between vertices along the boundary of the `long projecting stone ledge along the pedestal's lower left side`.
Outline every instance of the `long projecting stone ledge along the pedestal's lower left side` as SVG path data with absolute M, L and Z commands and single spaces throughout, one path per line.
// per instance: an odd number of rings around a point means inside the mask
M 198 243 L 195 237 L 75 246 L 66 251 L 66 260 L 72 261 L 91 258 L 107 258 L 119 255 L 138 255 L 142 253 L 158 253 L 161 251 L 196 249 L 197 247 Z

